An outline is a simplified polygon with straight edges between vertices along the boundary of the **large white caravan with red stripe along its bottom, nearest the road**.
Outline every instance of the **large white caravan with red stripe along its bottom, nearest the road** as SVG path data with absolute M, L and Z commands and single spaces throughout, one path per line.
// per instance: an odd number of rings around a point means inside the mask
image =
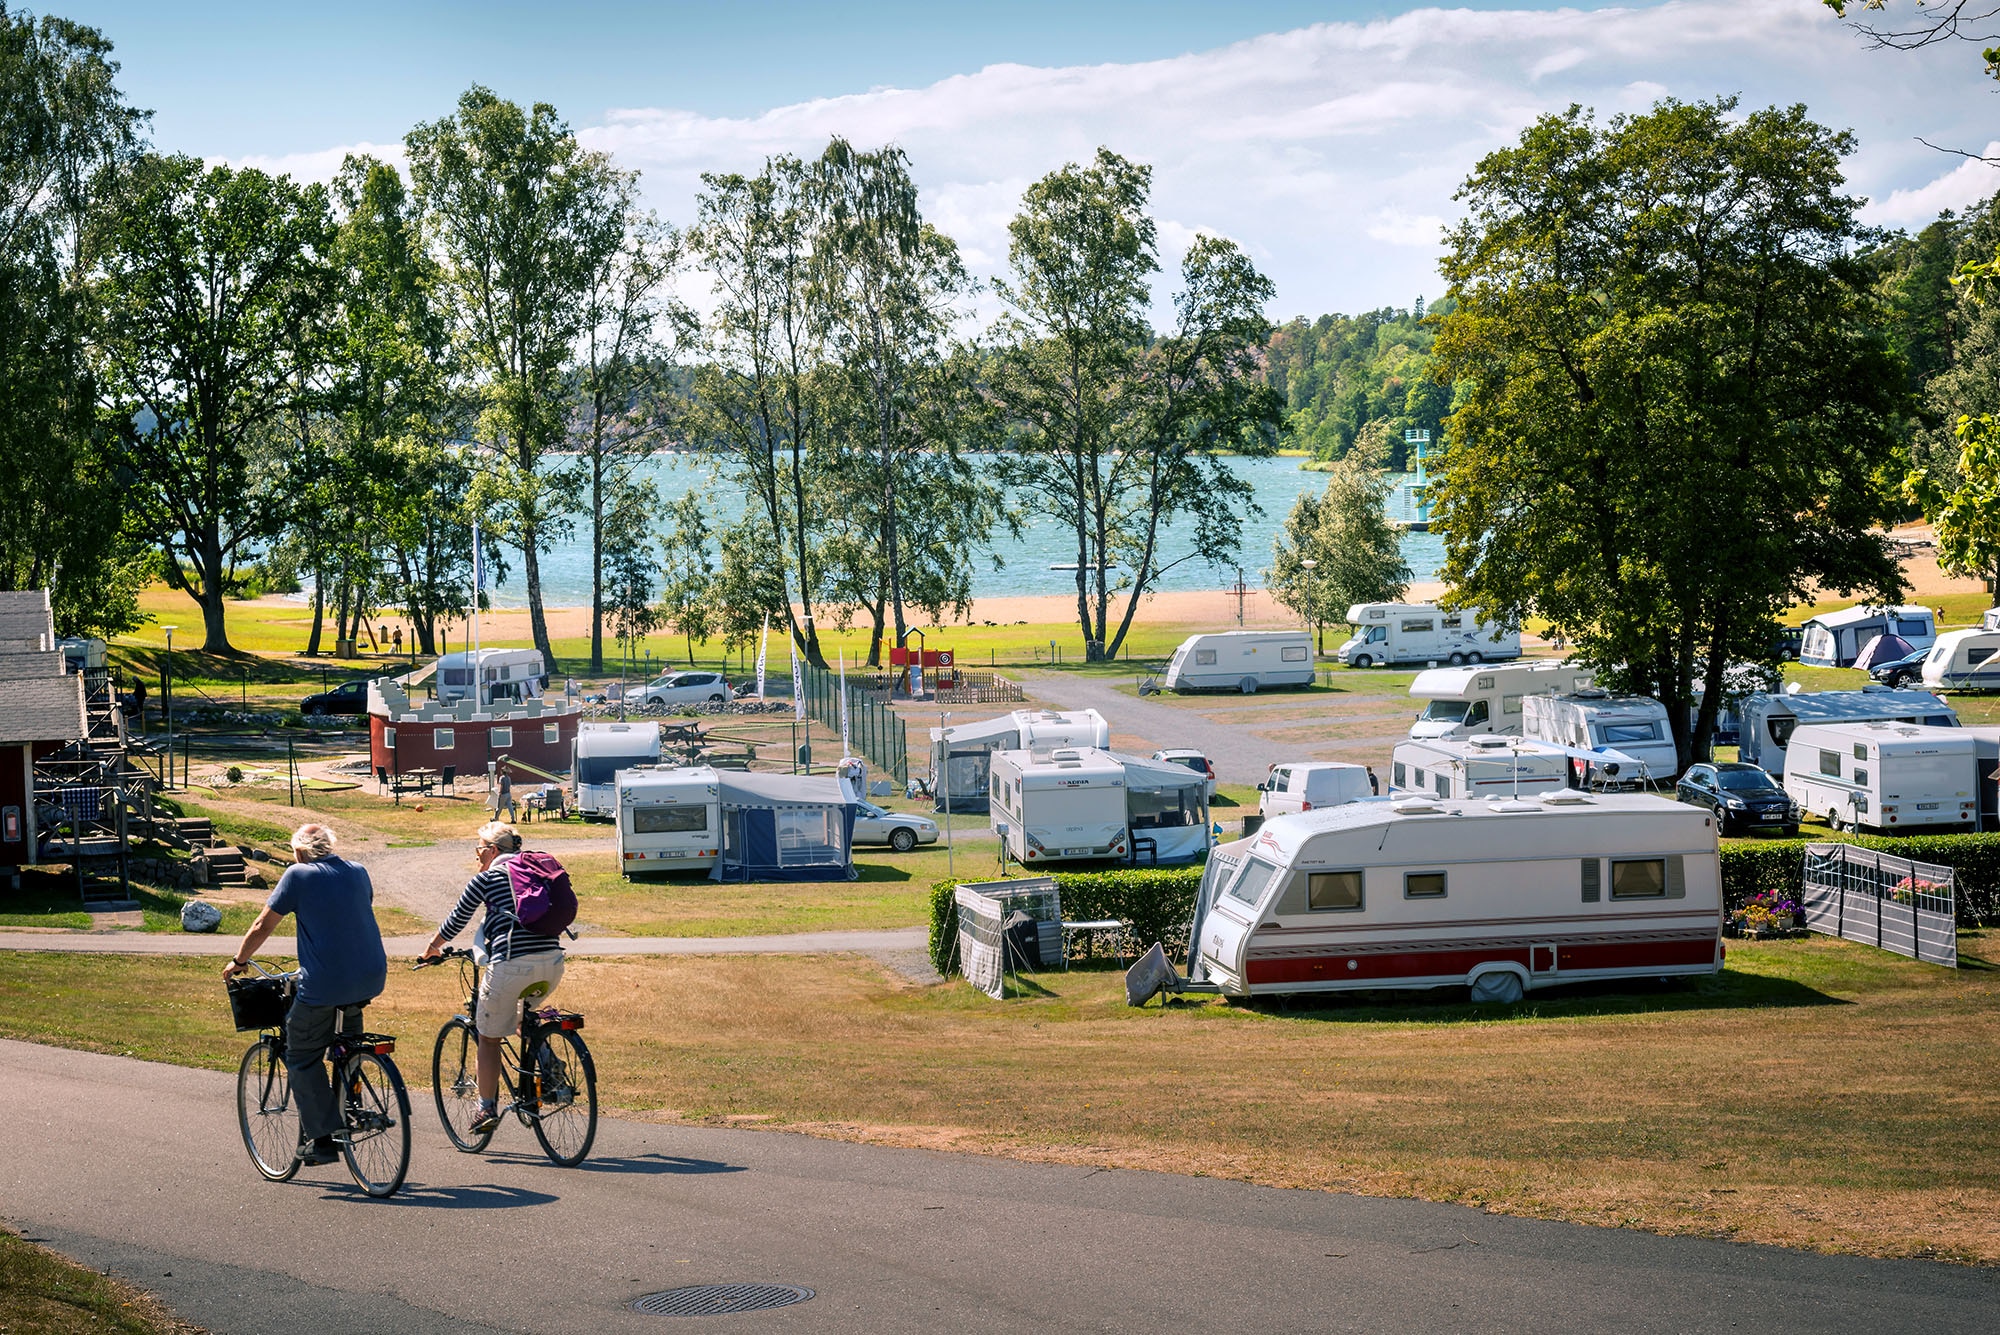
M 1224 995 L 1558 983 L 1722 967 L 1716 821 L 1648 793 L 1400 797 L 1208 857 L 1190 975 Z

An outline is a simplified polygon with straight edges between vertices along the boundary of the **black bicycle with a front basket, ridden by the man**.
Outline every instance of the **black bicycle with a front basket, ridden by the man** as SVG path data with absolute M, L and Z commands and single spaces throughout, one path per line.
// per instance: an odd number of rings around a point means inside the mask
M 236 1067 L 236 1125 L 250 1163 L 270 1181 L 290 1181 L 298 1161 L 298 1107 L 284 1067 L 284 1015 L 292 1007 L 298 973 L 272 973 L 250 961 L 258 977 L 230 979 L 236 1029 L 264 1033 Z M 326 1049 L 334 1069 L 334 1097 L 342 1129 L 334 1133 L 348 1173 L 368 1195 L 396 1195 L 410 1171 L 410 1093 L 390 1059 L 396 1039 L 388 1033 L 340 1033 Z

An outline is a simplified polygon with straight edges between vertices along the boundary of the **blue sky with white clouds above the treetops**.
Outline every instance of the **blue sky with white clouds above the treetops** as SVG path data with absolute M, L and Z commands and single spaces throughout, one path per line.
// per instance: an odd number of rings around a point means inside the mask
M 1850 180 L 1888 226 L 2000 188 L 1914 142 L 2000 138 L 1976 54 L 1868 52 L 1818 0 L 48 8 L 116 42 L 160 148 L 298 176 L 394 156 L 474 80 L 554 102 L 670 220 L 704 170 L 892 140 L 978 274 L 1004 264 L 1028 182 L 1110 144 L 1156 168 L 1168 264 L 1196 232 L 1232 236 L 1278 284 L 1274 316 L 1436 296 L 1456 184 L 1572 100 L 1804 102 L 1856 130 Z

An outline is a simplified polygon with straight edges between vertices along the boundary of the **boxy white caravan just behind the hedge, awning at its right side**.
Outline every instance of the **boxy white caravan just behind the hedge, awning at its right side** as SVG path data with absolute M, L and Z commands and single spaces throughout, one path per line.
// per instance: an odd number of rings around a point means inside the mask
M 1022 865 L 1126 855 L 1124 763 L 1110 751 L 994 751 L 990 791 L 992 827 Z

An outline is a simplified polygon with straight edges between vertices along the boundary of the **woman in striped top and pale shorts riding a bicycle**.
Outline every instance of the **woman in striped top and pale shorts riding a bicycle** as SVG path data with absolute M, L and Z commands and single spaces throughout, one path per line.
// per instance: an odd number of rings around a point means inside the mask
M 500 1125 L 500 1041 L 520 1023 L 522 999 L 542 999 L 562 981 L 562 939 L 532 931 L 514 917 L 514 885 L 506 863 L 520 851 L 520 833 L 504 821 L 492 821 L 480 825 L 478 839 L 480 873 L 466 881 L 458 905 L 424 947 L 424 959 L 436 959 L 444 943 L 486 907 L 486 921 L 480 925 L 486 969 L 474 1015 L 480 1031 L 480 1101 L 468 1127 L 474 1135 L 484 1135 Z

